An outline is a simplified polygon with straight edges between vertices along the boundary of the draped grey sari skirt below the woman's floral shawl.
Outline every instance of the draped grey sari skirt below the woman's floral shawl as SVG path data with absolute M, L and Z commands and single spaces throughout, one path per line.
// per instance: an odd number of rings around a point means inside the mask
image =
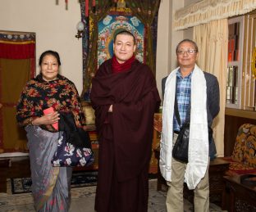
M 68 211 L 71 204 L 71 167 L 53 167 L 51 160 L 62 132 L 25 127 L 30 149 L 32 194 L 36 211 Z

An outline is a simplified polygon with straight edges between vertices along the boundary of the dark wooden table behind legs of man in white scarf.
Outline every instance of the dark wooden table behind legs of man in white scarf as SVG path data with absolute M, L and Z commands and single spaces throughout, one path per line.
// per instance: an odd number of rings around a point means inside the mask
M 158 159 L 158 191 L 162 190 L 162 185 L 166 185 L 167 183 L 160 173 L 159 169 L 159 148 L 154 150 L 155 156 Z M 223 160 L 221 157 L 217 157 L 210 162 L 209 167 L 209 189 L 210 189 L 210 201 L 222 207 L 223 202 L 223 191 L 225 188 L 225 182 L 223 180 L 223 176 L 226 171 L 229 169 L 230 162 Z M 184 187 L 184 196 L 191 203 L 194 202 L 194 191 L 189 190 L 185 184 Z

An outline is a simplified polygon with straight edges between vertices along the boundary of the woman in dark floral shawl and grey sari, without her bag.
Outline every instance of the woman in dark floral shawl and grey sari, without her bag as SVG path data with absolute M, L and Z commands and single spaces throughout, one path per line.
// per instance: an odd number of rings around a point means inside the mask
M 71 203 L 71 167 L 53 167 L 60 132 L 59 112 L 71 112 L 75 125 L 82 128 L 85 117 L 75 84 L 58 74 L 57 52 L 47 51 L 39 58 L 40 74 L 26 83 L 16 107 L 18 123 L 25 127 L 30 149 L 32 193 L 36 211 L 68 211 Z M 53 112 L 43 111 L 52 107 Z

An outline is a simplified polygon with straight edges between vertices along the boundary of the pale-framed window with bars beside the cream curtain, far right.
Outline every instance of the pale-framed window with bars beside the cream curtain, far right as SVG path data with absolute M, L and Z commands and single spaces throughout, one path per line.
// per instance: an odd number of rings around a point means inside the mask
M 229 20 L 226 107 L 256 111 L 256 11 Z

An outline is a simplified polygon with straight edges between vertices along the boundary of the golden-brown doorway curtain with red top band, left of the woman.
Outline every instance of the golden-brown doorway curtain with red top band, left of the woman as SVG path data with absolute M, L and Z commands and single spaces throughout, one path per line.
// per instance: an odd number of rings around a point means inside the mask
M 16 123 L 16 103 L 34 77 L 35 34 L 0 31 L 0 153 L 26 152 L 24 129 Z

